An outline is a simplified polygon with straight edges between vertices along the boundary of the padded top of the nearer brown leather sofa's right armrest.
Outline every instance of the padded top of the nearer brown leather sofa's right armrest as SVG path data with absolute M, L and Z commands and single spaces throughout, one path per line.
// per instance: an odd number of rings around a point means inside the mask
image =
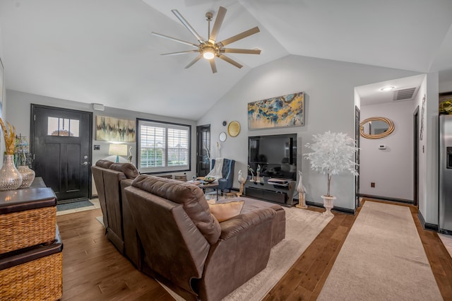
M 229 220 L 225 220 L 220 223 L 220 240 L 228 240 L 230 237 L 239 235 L 240 232 L 246 231 L 258 223 L 263 223 L 266 220 L 273 220 L 275 215 L 276 211 L 272 208 L 258 208 L 254 211 L 239 214 Z

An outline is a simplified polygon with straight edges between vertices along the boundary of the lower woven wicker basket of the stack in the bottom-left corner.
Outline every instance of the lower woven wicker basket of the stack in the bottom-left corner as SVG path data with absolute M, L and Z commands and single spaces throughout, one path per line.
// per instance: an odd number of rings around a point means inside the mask
M 63 294 L 63 253 L 0 271 L 0 300 L 58 300 Z

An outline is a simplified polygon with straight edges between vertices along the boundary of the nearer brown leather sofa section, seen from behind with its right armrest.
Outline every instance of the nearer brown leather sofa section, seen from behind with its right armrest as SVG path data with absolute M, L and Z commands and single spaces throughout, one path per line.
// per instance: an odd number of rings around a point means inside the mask
M 124 193 L 141 242 L 141 271 L 186 300 L 225 297 L 262 271 L 285 237 L 278 205 L 248 199 L 239 216 L 218 223 L 203 191 L 187 182 L 139 175 Z

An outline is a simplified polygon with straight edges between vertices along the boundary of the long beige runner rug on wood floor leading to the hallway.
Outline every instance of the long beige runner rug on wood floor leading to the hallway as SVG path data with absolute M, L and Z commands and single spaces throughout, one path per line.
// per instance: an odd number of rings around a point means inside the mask
M 318 300 L 443 300 L 410 208 L 366 201 Z

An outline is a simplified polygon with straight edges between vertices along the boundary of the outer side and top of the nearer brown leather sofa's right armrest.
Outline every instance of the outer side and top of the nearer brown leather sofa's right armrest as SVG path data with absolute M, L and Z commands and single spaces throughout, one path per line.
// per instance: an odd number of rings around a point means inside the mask
M 199 283 L 201 300 L 221 300 L 267 266 L 276 211 L 256 208 L 220 223 Z

